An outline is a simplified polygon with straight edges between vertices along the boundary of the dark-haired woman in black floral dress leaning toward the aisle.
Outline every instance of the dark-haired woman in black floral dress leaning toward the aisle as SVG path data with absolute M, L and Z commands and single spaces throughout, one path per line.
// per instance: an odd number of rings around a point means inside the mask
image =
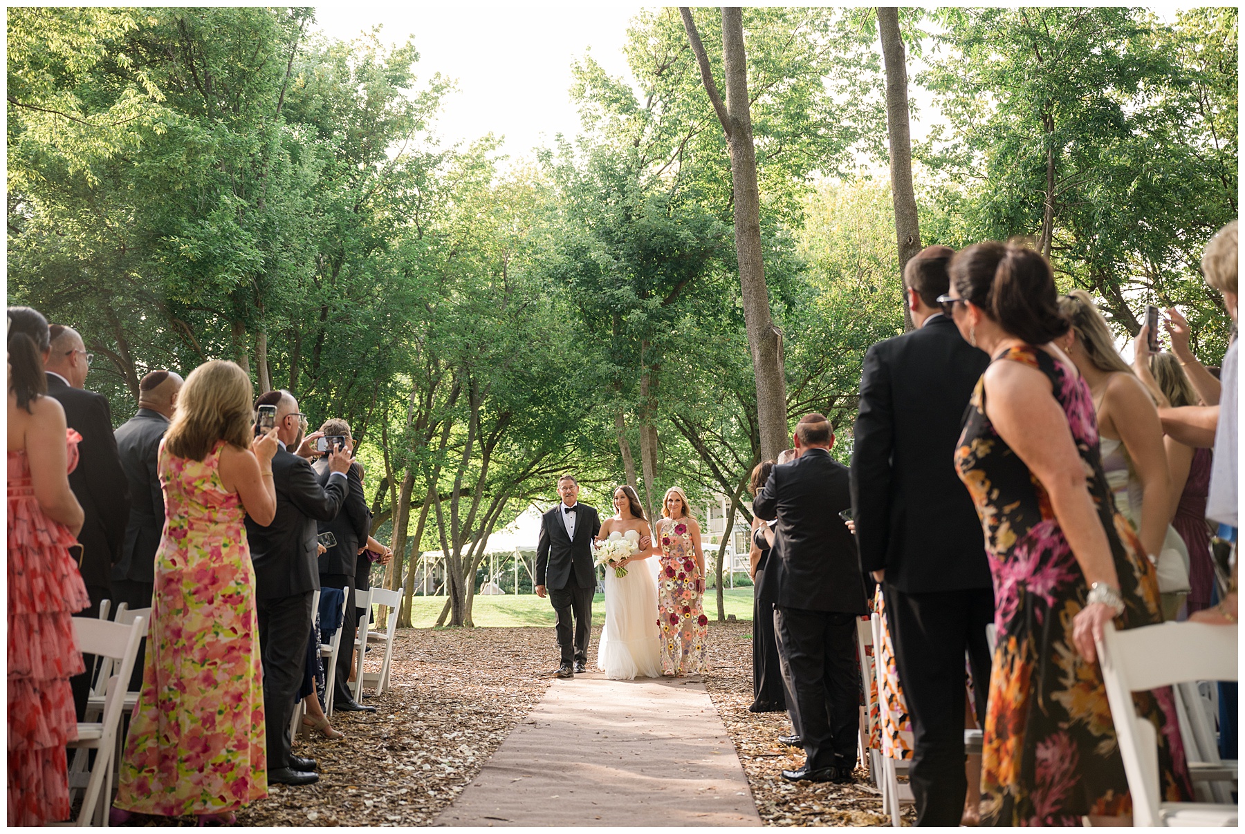
M 955 451 L 995 580 L 981 824 L 1125 823 L 1128 779 L 1094 638 L 1112 620 L 1162 621 L 1154 568 L 1107 487 L 1089 387 L 1052 344 L 1068 322 L 1050 263 L 986 242 L 959 252 L 950 272 L 947 312 L 994 357 Z M 1134 699 L 1158 731 L 1163 798 L 1188 798 L 1170 690 Z

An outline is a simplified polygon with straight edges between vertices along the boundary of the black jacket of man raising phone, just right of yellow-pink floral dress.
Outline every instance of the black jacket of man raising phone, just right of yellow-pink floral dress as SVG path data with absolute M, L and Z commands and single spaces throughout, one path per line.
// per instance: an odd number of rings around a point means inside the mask
M 316 522 L 331 521 L 346 500 L 346 481 L 316 481 L 310 461 L 280 449 L 273 457 L 276 516 L 260 527 L 247 516 L 247 542 L 255 566 L 255 597 L 276 599 L 320 587 Z

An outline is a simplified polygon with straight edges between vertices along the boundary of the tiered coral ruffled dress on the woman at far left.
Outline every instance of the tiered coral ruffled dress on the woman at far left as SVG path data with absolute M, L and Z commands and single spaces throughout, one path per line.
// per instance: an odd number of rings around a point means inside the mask
M 70 429 L 68 471 L 82 435 Z M 35 498 L 25 450 L 9 452 L 9 824 L 70 818 L 65 743 L 77 738 L 70 676 L 83 671 L 71 616 L 91 604 L 68 528 Z

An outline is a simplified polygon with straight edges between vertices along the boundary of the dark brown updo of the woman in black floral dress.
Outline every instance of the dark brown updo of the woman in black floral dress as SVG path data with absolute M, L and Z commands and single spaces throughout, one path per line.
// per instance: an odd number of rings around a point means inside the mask
M 1030 344 L 1046 344 L 1068 332 L 1051 265 L 1027 246 L 974 244 L 955 254 L 947 272 L 960 297 Z

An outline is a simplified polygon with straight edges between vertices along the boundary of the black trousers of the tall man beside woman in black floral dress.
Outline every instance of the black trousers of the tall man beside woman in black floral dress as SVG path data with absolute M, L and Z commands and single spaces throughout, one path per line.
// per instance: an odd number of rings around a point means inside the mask
M 886 625 L 899 685 L 913 721 L 908 769 L 918 825 L 959 825 L 969 783 L 964 773 L 964 659 L 972 669 L 974 705 L 985 726 L 990 689 L 986 624 L 991 588 L 906 593 L 885 585 Z

